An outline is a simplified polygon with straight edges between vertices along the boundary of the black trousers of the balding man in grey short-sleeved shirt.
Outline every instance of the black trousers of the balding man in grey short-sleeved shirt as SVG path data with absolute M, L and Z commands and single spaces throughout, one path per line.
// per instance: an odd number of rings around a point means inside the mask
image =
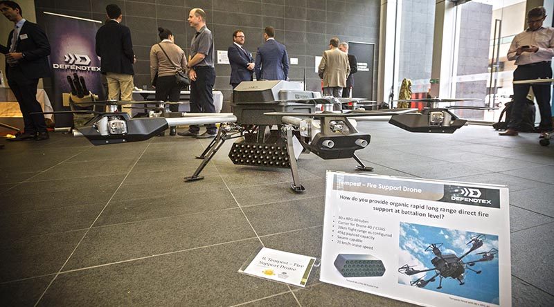
M 196 81 L 190 82 L 190 112 L 192 113 L 215 113 L 213 104 L 213 84 L 215 84 L 215 69 L 210 66 L 196 66 Z M 200 128 L 191 124 L 188 131 L 198 133 Z M 208 124 L 206 131 L 210 134 L 217 132 L 215 124 Z

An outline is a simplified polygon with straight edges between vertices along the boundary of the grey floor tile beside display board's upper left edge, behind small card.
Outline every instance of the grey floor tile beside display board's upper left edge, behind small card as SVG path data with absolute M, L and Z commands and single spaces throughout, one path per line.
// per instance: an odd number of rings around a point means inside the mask
M 324 198 L 320 196 L 309 200 L 244 207 L 242 210 L 258 235 L 263 236 L 322 225 L 324 207 Z

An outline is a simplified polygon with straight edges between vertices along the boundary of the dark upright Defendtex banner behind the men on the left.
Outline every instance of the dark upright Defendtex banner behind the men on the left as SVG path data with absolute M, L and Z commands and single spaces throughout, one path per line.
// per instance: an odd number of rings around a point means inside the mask
M 52 66 L 52 88 L 48 91 L 55 111 L 63 111 L 62 93 L 71 93 L 68 77 L 76 76 L 84 81 L 84 95 L 90 91 L 103 96 L 100 81 L 100 59 L 96 55 L 96 32 L 102 26 L 101 21 L 83 19 L 51 12 L 42 12 L 37 16 L 39 24 L 50 42 L 50 64 Z M 55 115 L 56 127 L 72 127 L 70 114 Z

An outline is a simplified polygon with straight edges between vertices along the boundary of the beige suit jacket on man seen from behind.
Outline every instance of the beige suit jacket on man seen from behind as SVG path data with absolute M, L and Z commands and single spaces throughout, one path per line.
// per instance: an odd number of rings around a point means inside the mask
M 323 73 L 323 87 L 346 87 L 346 77 L 350 74 L 348 55 L 339 48 L 325 50 L 318 71 Z

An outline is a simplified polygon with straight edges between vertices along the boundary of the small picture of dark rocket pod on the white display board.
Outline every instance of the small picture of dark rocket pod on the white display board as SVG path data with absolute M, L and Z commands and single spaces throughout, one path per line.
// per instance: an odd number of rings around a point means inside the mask
M 343 277 L 381 277 L 385 273 L 383 261 L 370 254 L 339 254 L 334 267 Z

